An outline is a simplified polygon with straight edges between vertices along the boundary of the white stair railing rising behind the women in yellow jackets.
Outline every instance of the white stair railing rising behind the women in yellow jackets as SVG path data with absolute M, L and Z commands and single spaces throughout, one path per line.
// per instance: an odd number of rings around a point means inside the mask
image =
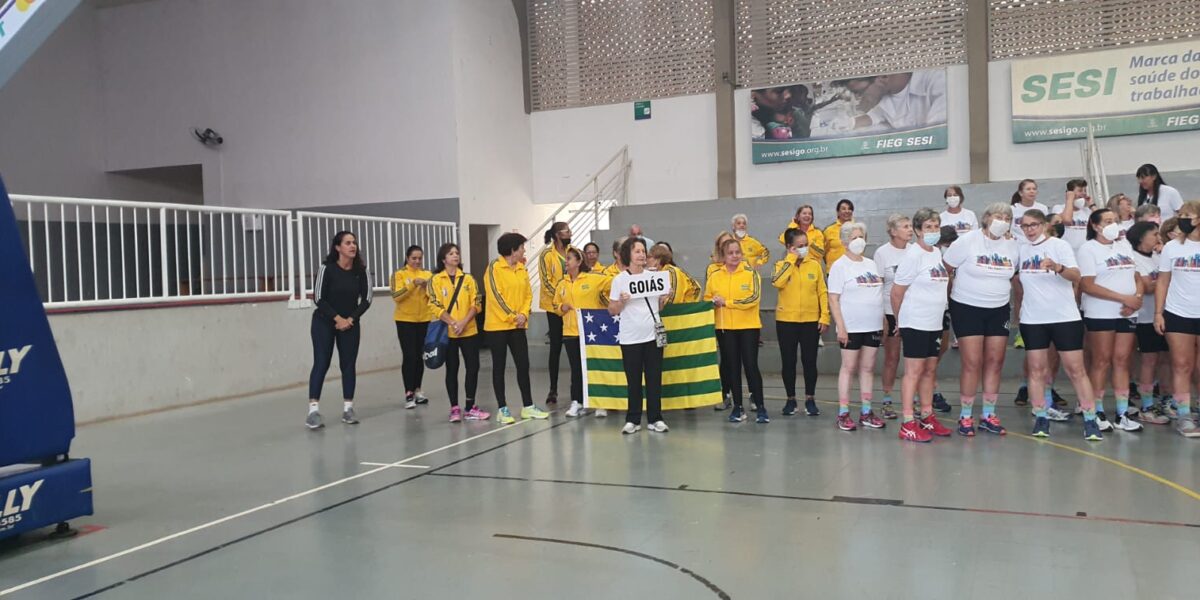
M 542 242 L 546 229 L 556 221 L 565 221 L 571 228 L 571 245 L 582 248 L 592 241 L 593 230 L 608 228 L 608 212 L 613 206 L 625 204 L 629 168 L 629 146 L 622 146 L 604 167 L 596 170 L 595 175 L 533 229 L 527 253 L 530 260 L 526 263 L 526 270 L 529 272 L 529 284 L 533 286 L 534 298 L 538 298 L 541 289 L 540 265 L 536 257 L 546 248 L 546 244 Z M 600 248 L 601 260 L 608 256 L 606 248 Z M 538 306 L 536 301 L 534 301 L 534 306 Z

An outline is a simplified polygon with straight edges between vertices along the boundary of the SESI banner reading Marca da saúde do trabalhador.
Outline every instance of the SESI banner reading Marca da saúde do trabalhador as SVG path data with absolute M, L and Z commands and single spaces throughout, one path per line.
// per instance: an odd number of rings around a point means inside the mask
M 1200 130 L 1200 43 L 1013 62 L 1013 143 Z

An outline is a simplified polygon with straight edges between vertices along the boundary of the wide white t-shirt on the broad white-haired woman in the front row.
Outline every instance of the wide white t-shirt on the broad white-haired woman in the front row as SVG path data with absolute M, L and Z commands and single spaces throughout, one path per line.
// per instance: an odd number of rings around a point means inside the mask
M 954 240 L 943 259 L 955 269 L 950 290 L 955 302 L 979 308 L 1008 304 L 1020 259 L 1015 240 L 992 240 L 977 229 Z

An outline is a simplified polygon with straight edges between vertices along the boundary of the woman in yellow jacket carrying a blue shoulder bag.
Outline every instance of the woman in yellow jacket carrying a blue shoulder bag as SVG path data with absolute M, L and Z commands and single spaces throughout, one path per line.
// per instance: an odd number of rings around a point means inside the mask
M 490 414 L 475 406 L 479 386 L 479 314 L 480 295 L 475 278 L 463 272 L 457 244 L 438 248 L 438 263 L 430 281 L 430 313 L 446 324 L 450 348 L 446 353 L 446 396 L 450 397 L 450 422 L 486 421 Z M 467 366 L 467 410 L 458 408 L 458 354 Z

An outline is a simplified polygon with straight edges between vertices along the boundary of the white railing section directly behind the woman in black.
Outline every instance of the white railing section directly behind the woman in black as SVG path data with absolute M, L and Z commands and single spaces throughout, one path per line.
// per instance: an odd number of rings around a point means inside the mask
M 404 266 L 404 251 L 409 246 L 421 247 L 425 252 L 425 268 L 432 270 L 438 247 L 458 241 L 457 223 L 448 221 L 296 212 L 301 306 L 311 304 L 317 269 L 329 253 L 337 232 L 352 232 L 358 236 L 359 252 L 367 264 L 371 287 L 377 292 L 391 286 L 391 274 Z

